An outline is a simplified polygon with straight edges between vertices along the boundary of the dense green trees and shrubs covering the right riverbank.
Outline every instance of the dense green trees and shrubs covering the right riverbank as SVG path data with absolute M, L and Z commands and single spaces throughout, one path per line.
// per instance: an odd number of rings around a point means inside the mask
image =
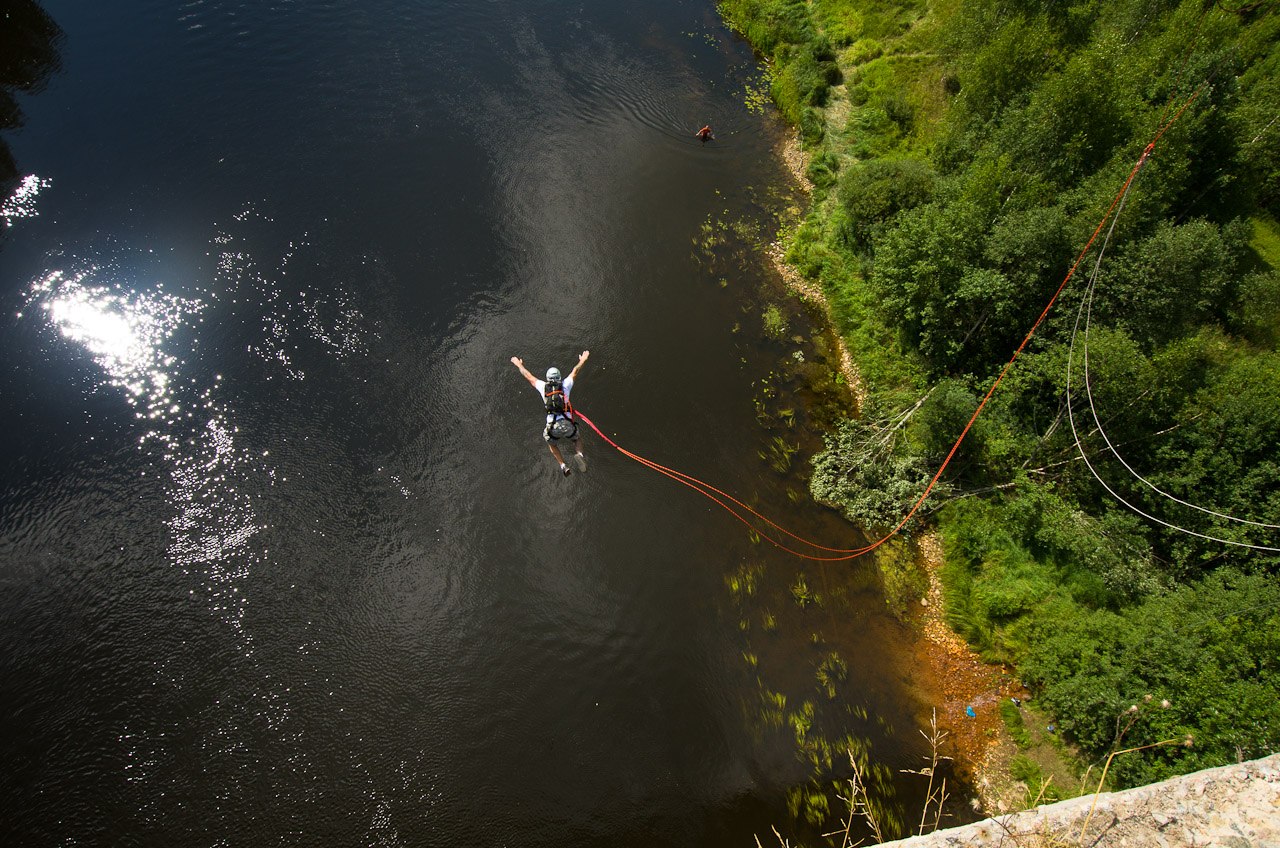
M 1121 784 L 1280 749 L 1277 6 L 722 5 L 814 163 L 788 257 L 869 383 L 813 491 L 873 528 L 1158 140 L 929 502 L 952 625 L 1089 757 L 1194 739 Z

